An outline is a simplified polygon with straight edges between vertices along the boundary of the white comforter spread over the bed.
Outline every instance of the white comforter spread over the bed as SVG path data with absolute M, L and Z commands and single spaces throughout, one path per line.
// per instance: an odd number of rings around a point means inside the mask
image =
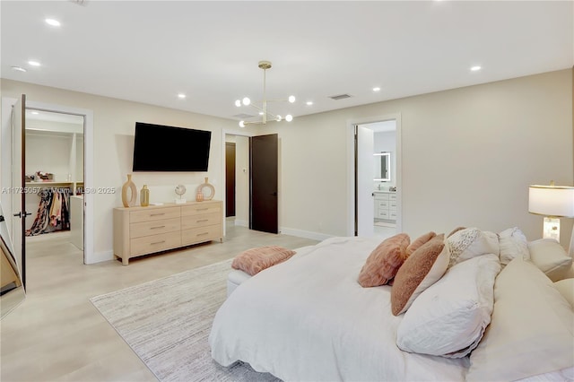
M 301 248 L 239 285 L 213 321 L 213 359 L 283 380 L 464 380 L 468 359 L 402 352 L 390 287 L 357 276 L 380 239 L 334 238 Z

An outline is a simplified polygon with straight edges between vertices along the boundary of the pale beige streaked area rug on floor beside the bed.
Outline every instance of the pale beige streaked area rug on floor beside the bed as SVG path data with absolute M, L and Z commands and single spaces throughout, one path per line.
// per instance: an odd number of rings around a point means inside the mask
M 207 342 L 226 298 L 231 260 L 91 298 L 161 382 L 278 381 L 238 362 L 223 368 Z

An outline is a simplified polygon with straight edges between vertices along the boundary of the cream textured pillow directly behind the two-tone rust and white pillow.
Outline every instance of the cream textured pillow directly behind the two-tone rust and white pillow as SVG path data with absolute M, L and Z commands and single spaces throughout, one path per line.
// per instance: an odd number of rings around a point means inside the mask
M 475 256 L 500 253 L 499 237 L 496 233 L 477 228 L 457 230 L 447 238 L 447 244 L 450 250 L 449 268 Z

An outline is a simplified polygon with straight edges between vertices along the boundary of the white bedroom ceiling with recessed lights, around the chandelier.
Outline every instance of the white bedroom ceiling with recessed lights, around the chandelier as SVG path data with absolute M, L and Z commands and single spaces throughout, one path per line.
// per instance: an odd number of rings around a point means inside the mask
M 297 102 L 268 111 L 297 118 L 570 68 L 573 4 L 3 0 L 0 74 L 239 120 L 269 60 L 267 99 Z

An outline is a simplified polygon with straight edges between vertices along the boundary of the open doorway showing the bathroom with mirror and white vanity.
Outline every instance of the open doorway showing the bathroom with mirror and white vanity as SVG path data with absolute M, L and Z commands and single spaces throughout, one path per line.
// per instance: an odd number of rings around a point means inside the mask
M 400 115 L 350 121 L 349 132 L 349 230 L 355 236 L 392 236 L 402 227 Z

